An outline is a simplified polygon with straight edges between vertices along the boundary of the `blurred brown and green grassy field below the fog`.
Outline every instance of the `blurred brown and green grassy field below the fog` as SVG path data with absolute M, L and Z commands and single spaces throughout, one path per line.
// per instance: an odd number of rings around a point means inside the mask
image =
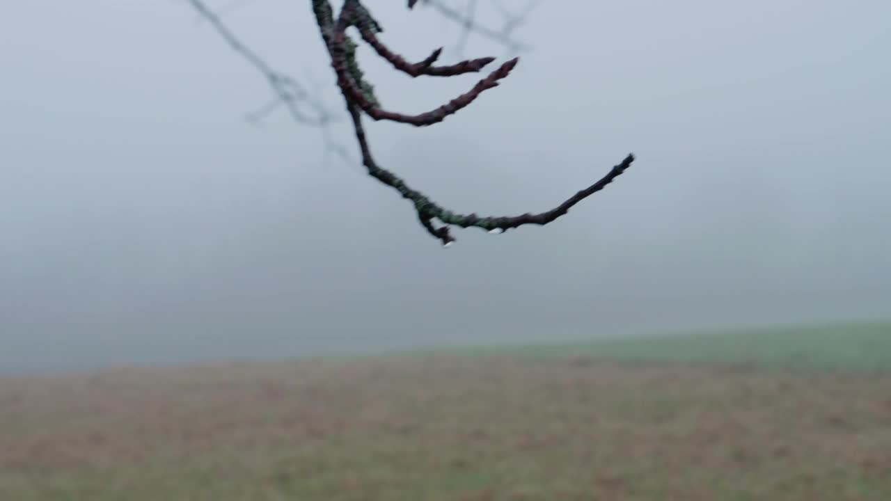
M 0 499 L 885 501 L 891 325 L 7 377 Z

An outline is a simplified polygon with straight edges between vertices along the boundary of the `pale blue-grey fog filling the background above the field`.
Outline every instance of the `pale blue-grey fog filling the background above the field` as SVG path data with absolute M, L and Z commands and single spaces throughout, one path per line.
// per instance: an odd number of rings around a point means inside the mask
M 454 23 L 371 4 L 407 58 L 459 57 Z M 309 3 L 236 5 L 357 157 Z M 889 316 L 889 19 L 883 0 L 541 4 L 516 33 L 532 50 L 469 108 L 367 120 L 377 160 L 486 215 L 638 160 L 551 225 L 443 249 L 317 128 L 246 121 L 266 82 L 185 2 L 5 4 L 0 372 Z M 511 56 L 475 35 L 465 54 Z M 396 111 L 478 79 L 360 60 Z

